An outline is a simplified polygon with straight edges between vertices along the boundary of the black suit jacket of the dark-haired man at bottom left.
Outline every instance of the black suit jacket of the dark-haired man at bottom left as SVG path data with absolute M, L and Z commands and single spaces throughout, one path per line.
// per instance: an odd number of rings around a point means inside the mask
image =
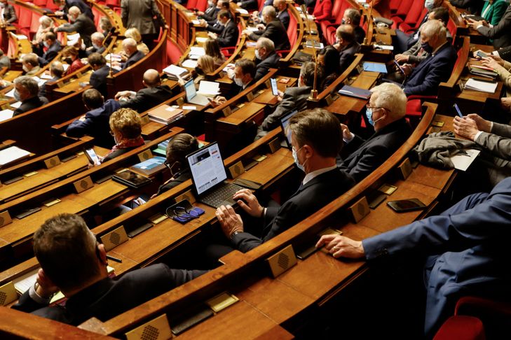
M 65 307 L 38 304 L 25 292 L 13 308 L 70 325 L 79 325 L 92 317 L 106 321 L 205 273 L 154 264 L 118 280 L 104 278 L 69 297 Z

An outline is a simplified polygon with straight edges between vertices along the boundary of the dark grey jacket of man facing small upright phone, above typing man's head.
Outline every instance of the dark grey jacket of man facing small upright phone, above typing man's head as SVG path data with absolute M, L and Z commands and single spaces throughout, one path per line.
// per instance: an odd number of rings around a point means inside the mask
M 297 108 L 299 111 L 305 110 L 307 108 L 307 98 L 311 95 L 311 90 L 311 86 L 287 87 L 284 91 L 284 97 L 282 97 L 282 101 L 275 108 L 275 111 L 264 118 L 261 129 L 264 131 L 275 129 L 275 127 L 280 125 L 280 117 L 294 108 Z

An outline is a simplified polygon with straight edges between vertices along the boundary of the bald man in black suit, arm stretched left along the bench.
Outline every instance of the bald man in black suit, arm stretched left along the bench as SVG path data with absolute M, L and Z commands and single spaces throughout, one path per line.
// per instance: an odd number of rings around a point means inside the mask
M 121 101 L 121 108 L 132 108 L 142 113 L 172 97 L 172 90 L 167 85 L 161 85 L 160 75 L 155 69 L 144 72 L 145 88 L 134 91 L 117 92 L 115 99 Z

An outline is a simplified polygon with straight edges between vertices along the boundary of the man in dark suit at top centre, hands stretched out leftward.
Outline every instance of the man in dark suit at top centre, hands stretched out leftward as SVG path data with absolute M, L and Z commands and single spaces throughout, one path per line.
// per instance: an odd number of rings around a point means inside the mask
M 266 24 L 266 27 L 263 24 L 258 24 L 258 31 L 252 32 L 249 29 L 245 29 L 243 34 L 254 41 L 261 37 L 268 38 L 275 44 L 275 50 L 289 50 L 291 45 L 289 44 L 287 31 L 282 22 L 277 19 L 275 7 L 266 6 L 263 8 L 263 22 Z

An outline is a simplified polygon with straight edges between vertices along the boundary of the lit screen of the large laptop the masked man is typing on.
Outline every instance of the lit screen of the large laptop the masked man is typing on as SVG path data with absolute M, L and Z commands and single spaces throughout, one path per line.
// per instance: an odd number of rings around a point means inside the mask
M 191 153 L 186 156 L 186 160 L 191 169 L 193 185 L 199 195 L 227 179 L 218 143 L 211 143 Z

